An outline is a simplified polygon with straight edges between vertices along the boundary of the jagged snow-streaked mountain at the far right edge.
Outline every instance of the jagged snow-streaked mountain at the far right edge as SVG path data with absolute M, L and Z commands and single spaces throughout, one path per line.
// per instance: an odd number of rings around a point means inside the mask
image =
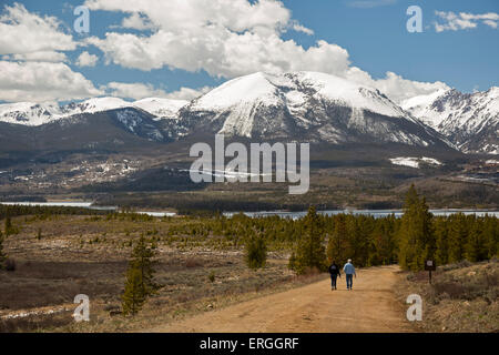
M 464 152 L 499 154 L 498 87 L 471 94 L 441 90 L 411 98 L 400 105 Z

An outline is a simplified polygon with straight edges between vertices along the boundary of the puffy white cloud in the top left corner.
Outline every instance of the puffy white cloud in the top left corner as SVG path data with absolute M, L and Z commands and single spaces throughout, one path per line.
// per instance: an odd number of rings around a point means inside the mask
M 20 3 L 3 7 L 0 14 L 0 54 L 14 54 L 27 60 L 48 58 L 49 61 L 54 61 L 63 55 L 59 51 L 75 48 L 72 36 L 61 30 L 57 18 L 31 13 Z

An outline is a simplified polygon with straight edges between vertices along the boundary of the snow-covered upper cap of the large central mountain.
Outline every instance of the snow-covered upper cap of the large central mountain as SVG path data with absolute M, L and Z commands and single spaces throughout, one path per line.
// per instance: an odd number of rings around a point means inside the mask
M 236 78 L 194 100 L 191 110 L 221 111 L 247 104 L 297 108 L 307 100 L 335 101 L 345 106 L 369 110 L 389 116 L 406 116 L 394 102 L 379 91 L 319 72 L 269 74 L 257 72 Z

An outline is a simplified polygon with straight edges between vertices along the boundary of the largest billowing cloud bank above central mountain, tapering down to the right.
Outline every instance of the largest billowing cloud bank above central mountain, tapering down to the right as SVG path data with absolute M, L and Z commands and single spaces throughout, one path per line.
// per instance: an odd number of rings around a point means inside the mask
M 88 0 L 85 4 L 92 10 L 129 13 L 130 28 L 153 29 L 146 34 L 108 32 L 104 38 L 86 40 L 104 53 L 108 63 L 124 68 L 150 71 L 166 67 L 226 79 L 257 71 L 319 71 L 371 85 L 396 101 L 442 87 L 394 73 L 374 80 L 353 67 L 348 51 L 337 44 L 318 40 L 305 49 L 294 40 L 284 40 L 282 34 L 289 29 L 314 32 L 292 19 L 291 11 L 277 0 L 139 0 L 133 4 Z

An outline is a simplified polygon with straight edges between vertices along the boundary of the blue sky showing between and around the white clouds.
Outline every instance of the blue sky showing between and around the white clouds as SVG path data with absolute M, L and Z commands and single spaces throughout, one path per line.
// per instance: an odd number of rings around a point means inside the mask
M 3 6 L 13 6 L 14 2 L 2 1 L 2 8 Z M 90 33 L 78 34 L 73 30 L 73 21 L 77 17 L 72 13 L 72 9 L 84 1 L 31 0 L 17 2 L 22 3 L 30 13 L 41 18 L 50 16 L 59 19 L 63 27 L 59 28 L 59 31 L 71 36 L 74 41 L 84 41 L 88 38 L 104 39 L 106 32 L 131 33 L 141 39 L 147 38 L 155 31 L 154 29 L 141 31 L 133 28 L 120 28 L 123 19 L 129 17 L 130 12 L 91 10 Z M 254 2 L 252 1 L 252 3 Z M 347 51 L 349 65 L 367 72 L 373 80 L 383 80 L 389 71 L 405 80 L 430 83 L 440 81 L 465 92 L 487 90 L 492 85 L 499 85 L 499 28 L 497 28 L 497 21 L 495 28 L 493 23 L 486 24 L 485 18 L 477 17 L 471 19 L 471 22 L 475 23 L 475 27 L 471 28 L 449 29 L 441 32 L 437 32 L 435 28 L 436 21 L 441 24 L 448 21 L 448 19 L 437 16 L 436 11 L 465 12 L 473 16 L 497 14 L 499 12 L 499 1 L 497 0 L 284 0 L 282 4 L 289 11 L 292 23 L 299 23 L 308 29 L 307 31 L 288 29 L 279 33 L 278 37 L 283 42 L 294 40 L 296 48 L 303 47 L 305 51 L 316 47 L 317 41 L 337 44 Z M 406 30 L 406 22 L 409 19 L 406 9 L 413 4 L 419 6 L 422 10 L 422 33 L 409 33 Z M 241 17 L 241 14 L 238 16 Z M 313 31 L 313 34 L 305 33 L 310 32 L 309 30 Z M 0 34 L 2 34 L 1 30 Z M 169 59 L 159 60 L 157 65 L 161 68 L 153 69 L 143 64 L 116 63 L 121 54 L 105 52 L 110 47 L 112 43 L 108 41 L 101 43 L 100 48 L 85 44 L 77 47 L 74 50 L 59 51 L 65 54 L 64 63 L 71 71 L 81 73 L 93 83 L 94 88 L 103 88 L 110 82 L 145 83 L 151 89 L 171 93 L 181 88 L 216 87 L 240 73 L 234 69 L 218 72 L 216 64 L 201 64 L 197 69 L 185 70 L 176 68 L 182 65 L 171 64 Z M 103 48 L 105 49 L 103 50 Z M 77 60 L 83 51 L 99 58 L 94 67 L 77 65 Z M 3 51 L 2 54 L 10 55 L 10 58 L 4 57 L 3 60 L 13 61 L 12 54 L 16 53 Z M 196 55 L 202 57 L 203 53 L 196 51 Z M 105 58 L 110 60 L 106 61 Z M 308 69 L 306 60 L 299 69 Z M 314 59 L 314 65 L 310 64 L 309 69 L 329 68 L 327 58 L 324 59 L 323 55 L 320 60 L 325 62 L 317 63 Z M 344 58 L 338 59 L 338 61 Z M 265 63 L 259 60 L 258 63 L 248 65 L 247 71 L 252 71 L 254 68 L 259 69 L 258 65 L 263 65 L 262 70 L 265 70 Z M 286 68 L 288 63 L 283 65 Z M 337 74 L 334 69 L 332 71 Z M 385 84 L 380 83 L 380 85 Z M 398 88 L 387 90 L 401 90 Z M 429 89 L 425 90 L 420 93 L 429 92 Z M 35 98 L 35 95 L 33 97 Z M 0 101 L 12 101 L 9 95 L 7 98 L 0 97 Z

